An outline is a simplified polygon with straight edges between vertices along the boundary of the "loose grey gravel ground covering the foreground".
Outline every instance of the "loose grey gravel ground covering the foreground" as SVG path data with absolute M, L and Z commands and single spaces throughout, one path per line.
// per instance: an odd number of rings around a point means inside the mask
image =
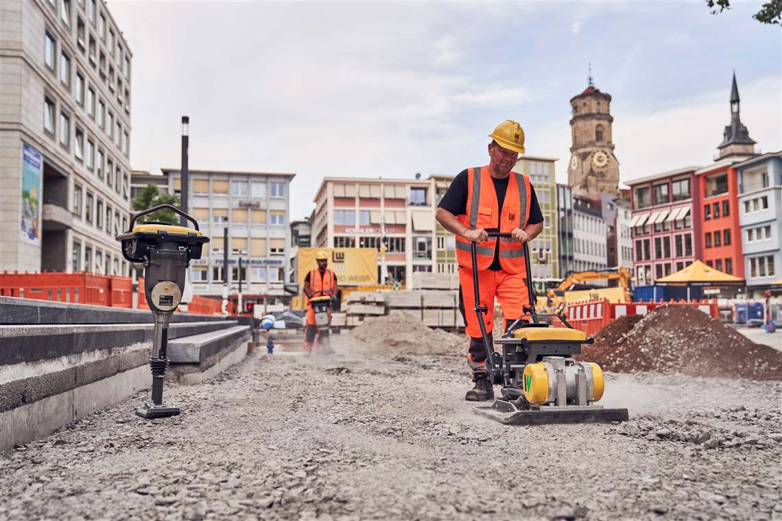
M 0 519 L 782 519 L 782 384 L 608 376 L 621 425 L 502 426 L 456 355 L 267 357 L 0 453 Z

